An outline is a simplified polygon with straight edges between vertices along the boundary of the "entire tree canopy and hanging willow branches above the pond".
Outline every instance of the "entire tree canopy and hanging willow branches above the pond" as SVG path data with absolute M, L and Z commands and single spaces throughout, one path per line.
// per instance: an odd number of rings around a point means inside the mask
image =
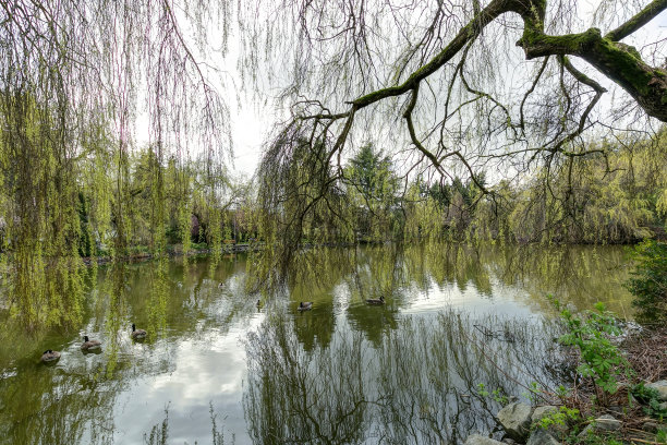
M 0 268 L 16 277 L 19 312 L 28 325 L 75 320 L 81 255 L 220 246 L 231 203 L 234 233 L 243 226 L 287 260 L 304 243 L 354 242 L 361 226 L 634 239 L 667 208 L 655 148 L 667 40 L 645 32 L 667 0 L 582 8 L 0 0 Z M 234 61 L 230 81 L 219 67 Z M 281 121 L 251 212 L 253 190 L 229 178 L 230 107 L 272 106 L 274 92 Z

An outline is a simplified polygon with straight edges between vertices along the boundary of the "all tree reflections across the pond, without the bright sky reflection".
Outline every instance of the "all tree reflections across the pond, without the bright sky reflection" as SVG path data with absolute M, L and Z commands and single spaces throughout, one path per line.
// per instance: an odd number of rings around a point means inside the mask
M 482 412 L 497 407 L 476 396 L 476 385 L 508 394 L 525 392 L 490 358 L 520 382 L 529 378 L 521 370 L 543 364 L 550 374 L 531 381 L 553 382 L 559 373 L 568 376 L 558 360 L 548 359 L 557 352 L 548 350 L 553 344 L 542 341 L 548 335 L 523 322 L 488 320 L 484 325 L 489 330 L 477 330 L 465 317 L 459 321 L 449 314 L 437 321 L 405 320 L 399 313 L 409 303 L 410 289 L 426 292 L 433 282 L 460 281 L 484 292 L 489 282 L 494 291 L 504 284 L 521 284 L 531 303 L 546 308 L 543 294 L 557 289 L 563 300 L 587 306 L 589 300 L 619 293 L 618 265 L 623 262 L 618 249 L 604 248 L 595 248 L 593 254 L 591 248 L 475 250 L 445 244 L 326 252 L 316 264 L 304 264 L 304 274 L 292 277 L 293 317 L 283 314 L 282 326 L 276 320 L 267 322 L 248 342 L 244 408 L 257 442 L 279 442 L 276 437 L 316 437 L 314 442 L 323 443 L 413 443 L 415 437 L 421 443 L 456 442 L 466 429 L 489 431 L 493 424 L 484 422 L 490 417 Z M 240 276 L 244 268 L 243 255 L 222 258 L 215 266 L 192 258 L 186 267 L 157 261 L 92 268 L 84 278 L 97 288 L 84 300 L 85 324 L 80 329 L 85 325 L 88 333 L 100 335 L 104 351 L 96 359 L 76 350 L 52 368 L 36 365 L 40 352 L 53 345 L 71 348 L 84 332 L 45 330 L 26 337 L 5 311 L 0 321 L 4 323 L 0 434 L 10 443 L 112 442 L 118 394 L 137 375 L 173 369 L 172 345 L 190 338 L 206 340 L 211 329 L 225 334 L 253 316 L 256 298 L 244 292 Z M 345 289 L 349 301 L 344 297 L 338 301 L 338 290 Z M 379 294 L 386 296 L 387 304 L 364 303 Z M 295 313 L 298 300 L 311 300 L 307 296 L 316 301 L 313 311 Z M 337 304 L 344 308 L 349 323 L 336 314 Z M 266 313 L 275 316 L 276 310 L 267 305 Z M 132 321 L 150 330 L 157 326 L 155 337 L 142 347 L 149 352 L 146 356 L 131 353 Z M 350 324 L 354 333 L 347 332 Z M 505 341 L 505 324 L 513 342 Z M 485 346 L 484 353 L 473 341 Z M 159 357 L 150 357 L 158 347 Z

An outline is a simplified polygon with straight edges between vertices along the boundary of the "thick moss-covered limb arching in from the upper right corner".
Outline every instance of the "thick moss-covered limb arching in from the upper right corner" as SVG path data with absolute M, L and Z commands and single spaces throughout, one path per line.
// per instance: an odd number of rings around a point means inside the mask
M 605 37 L 597 28 L 580 34 L 550 36 L 544 33 L 545 0 L 494 0 L 461 29 L 442 51 L 414 71 L 401 85 L 377 89 L 350 104 L 361 109 L 412 91 L 421 81 L 458 55 L 487 24 L 504 13 L 516 12 L 524 22 L 523 36 L 517 45 L 523 48 L 526 59 L 565 55 L 581 57 L 623 87 L 647 115 L 667 122 L 667 71 L 650 67 L 634 48 L 609 38 L 622 38 L 631 34 L 664 10 L 667 10 L 667 0 L 654 0 L 642 12 Z

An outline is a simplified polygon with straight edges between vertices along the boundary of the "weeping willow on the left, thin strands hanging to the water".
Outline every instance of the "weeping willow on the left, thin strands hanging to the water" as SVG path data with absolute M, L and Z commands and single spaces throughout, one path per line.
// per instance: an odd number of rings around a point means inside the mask
M 221 170 L 229 113 L 198 60 L 209 29 L 221 31 L 225 57 L 225 3 L 0 2 L 2 275 L 23 326 L 77 323 L 80 250 L 105 245 L 113 257 L 131 251 L 137 181 L 151 203 L 151 249 L 160 253 L 169 159 L 184 172 L 196 154 L 208 172 Z M 148 148 L 134 165 L 145 168 L 143 177 L 132 163 L 141 139 Z M 223 184 L 209 178 L 213 201 Z M 190 185 L 182 173 L 179 197 Z

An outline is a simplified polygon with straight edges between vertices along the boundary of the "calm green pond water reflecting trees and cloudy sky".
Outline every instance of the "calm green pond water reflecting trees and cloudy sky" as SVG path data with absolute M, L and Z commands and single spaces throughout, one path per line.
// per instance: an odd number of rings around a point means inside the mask
M 4 303 L 0 443 L 462 443 L 496 430 L 478 384 L 525 398 L 571 375 L 548 293 L 631 317 L 621 248 L 310 251 L 270 293 L 246 291 L 253 261 L 90 268 L 75 328 L 27 335 Z

